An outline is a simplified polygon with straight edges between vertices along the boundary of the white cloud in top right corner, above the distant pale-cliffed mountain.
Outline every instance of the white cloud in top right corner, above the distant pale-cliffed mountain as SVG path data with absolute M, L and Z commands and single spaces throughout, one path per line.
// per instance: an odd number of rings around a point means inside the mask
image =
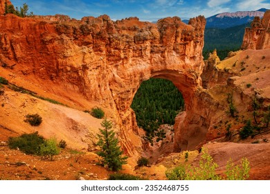
M 270 3 L 264 2 L 264 0 L 245 0 L 237 3 L 236 6 L 239 10 L 258 10 L 260 8 L 270 8 Z

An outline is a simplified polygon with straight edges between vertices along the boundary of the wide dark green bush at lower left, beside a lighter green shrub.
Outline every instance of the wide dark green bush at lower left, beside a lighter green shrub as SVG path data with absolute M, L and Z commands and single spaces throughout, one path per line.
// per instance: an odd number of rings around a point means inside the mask
M 21 152 L 24 152 L 27 155 L 39 155 L 40 145 L 44 142 L 44 137 L 35 132 L 32 134 L 22 134 L 21 136 L 10 137 L 8 139 L 8 146 L 11 149 L 19 148 Z

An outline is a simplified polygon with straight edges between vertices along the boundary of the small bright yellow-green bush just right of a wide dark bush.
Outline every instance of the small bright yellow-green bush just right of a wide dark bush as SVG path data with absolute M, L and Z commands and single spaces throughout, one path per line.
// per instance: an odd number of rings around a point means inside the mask
M 59 155 L 60 149 L 57 147 L 56 139 L 48 139 L 40 145 L 40 155 L 51 158 L 53 161 L 54 155 Z

